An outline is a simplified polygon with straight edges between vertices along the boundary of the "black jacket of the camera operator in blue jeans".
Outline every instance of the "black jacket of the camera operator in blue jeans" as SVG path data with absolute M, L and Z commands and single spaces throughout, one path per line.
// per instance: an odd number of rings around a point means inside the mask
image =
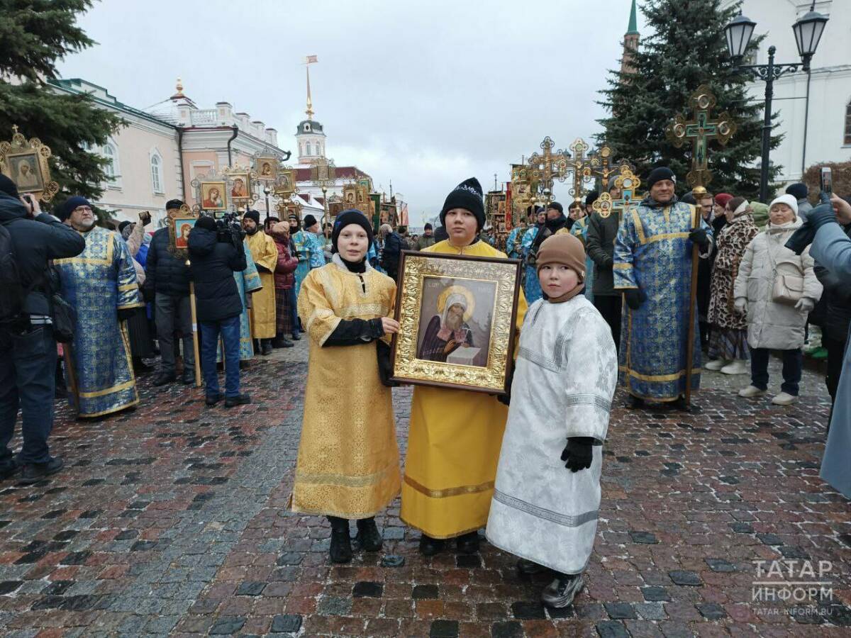
M 243 299 L 233 273 L 248 267 L 245 251 L 237 250 L 231 242 L 218 241 L 215 231 L 193 228 L 189 257 L 198 321 L 217 322 L 241 313 Z

